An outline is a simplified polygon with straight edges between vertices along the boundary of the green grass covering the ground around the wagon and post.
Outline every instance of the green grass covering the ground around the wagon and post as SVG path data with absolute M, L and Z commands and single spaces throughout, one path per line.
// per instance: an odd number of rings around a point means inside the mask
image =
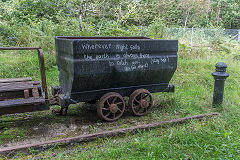
M 214 47 L 212 47 L 214 48 Z M 127 112 L 119 121 L 105 123 L 97 119 L 86 105 L 73 106 L 66 117 L 54 116 L 48 111 L 1 116 L 0 144 L 18 142 L 37 135 L 33 128 L 57 127 L 71 124 L 77 129 L 56 138 L 75 134 L 94 133 L 101 130 L 125 128 L 136 124 L 185 117 L 218 111 L 222 115 L 203 121 L 167 125 L 137 134 L 126 133 L 118 137 L 98 139 L 94 142 L 55 146 L 46 151 L 30 150 L 30 154 L 17 153 L 2 158 L 14 159 L 240 159 L 240 91 L 239 91 L 239 44 L 232 52 L 225 53 L 218 47 L 206 52 L 206 48 L 193 49 L 189 54 L 184 47 L 179 50 L 178 69 L 171 83 L 175 93 L 156 93 L 153 112 L 144 117 L 133 117 Z M 213 54 L 213 52 L 215 52 Z M 54 55 L 45 54 L 47 80 L 57 85 L 57 68 Z M 0 54 L 0 77 L 31 76 L 39 80 L 37 57 L 34 53 L 19 55 L 11 52 Z M 224 102 L 213 108 L 212 94 L 214 80 L 211 73 L 215 64 L 228 64 L 230 77 L 225 82 Z M 27 118 L 25 121 L 24 119 Z M 55 128 L 57 128 L 55 127 Z M 54 128 L 54 126 L 53 126 Z M 54 129 L 55 129 L 54 128 Z M 42 127 L 44 129 L 44 127 Z M 41 131 L 41 129 L 40 129 Z M 47 134 L 43 131 L 42 134 Z

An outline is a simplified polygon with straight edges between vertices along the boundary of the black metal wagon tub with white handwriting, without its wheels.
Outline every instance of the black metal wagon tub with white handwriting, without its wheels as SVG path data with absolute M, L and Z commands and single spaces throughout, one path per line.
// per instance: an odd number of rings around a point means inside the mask
M 60 102 L 92 102 L 115 92 L 130 96 L 138 89 L 173 92 L 177 40 L 146 37 L 56 37 Z

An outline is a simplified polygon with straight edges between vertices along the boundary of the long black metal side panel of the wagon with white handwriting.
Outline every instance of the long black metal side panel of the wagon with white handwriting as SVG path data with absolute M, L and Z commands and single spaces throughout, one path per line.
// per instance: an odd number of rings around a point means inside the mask
M 78 40 L 73 46 L 73 93 L 168 84 L 177 67 L 177 41 Z

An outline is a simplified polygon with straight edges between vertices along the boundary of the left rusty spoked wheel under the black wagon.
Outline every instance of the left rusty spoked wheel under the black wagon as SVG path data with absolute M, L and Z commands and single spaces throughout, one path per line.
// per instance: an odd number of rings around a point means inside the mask
M 98 102 L 98 116 L 106 121 L 115 121 L 120 118 L 125 111 L 125 102 L 123 97 L 116 93 L 110 92 L 102 96 Z

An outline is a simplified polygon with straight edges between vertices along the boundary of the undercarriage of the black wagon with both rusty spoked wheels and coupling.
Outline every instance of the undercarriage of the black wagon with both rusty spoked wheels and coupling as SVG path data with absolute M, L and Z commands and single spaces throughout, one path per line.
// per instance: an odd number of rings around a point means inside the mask
M 59 87 L 55 87 L 53 90 L 54 93 L 60 93 Z M 70 104 L 79 102 L 97 103 L 98 116 L 106 121 L 114 121 L 124 113 L 126 104 L 123 97 L 127 96 L 129 97 L 128 106 L 133 115 L 143 116 L 151 110 L 154 104 L 151 93 L 155 92 L 174 92 L 174 85 L 153 84 L 93 90 L 72 93 L 71 98 L 60 94 L 58 95 L 59 105 L 61 106 L 59 113 L 65 115 Z

